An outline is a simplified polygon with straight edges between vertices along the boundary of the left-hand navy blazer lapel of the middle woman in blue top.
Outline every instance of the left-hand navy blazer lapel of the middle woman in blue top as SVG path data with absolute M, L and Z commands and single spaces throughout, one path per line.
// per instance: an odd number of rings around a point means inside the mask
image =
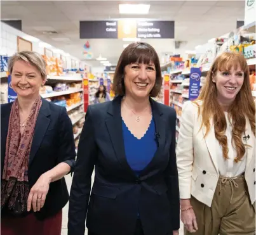
M 122 129 L 122 117 L 121 117 L 121 96 L 118 96 L 112 101 L 109 107 L 108 117 L 105 120 L 107 126 L 107 131 L 111 137 L 111 143 L 116 153 L 116 158 L 118 158 L 121 166 L 128 170 L 131 175 L 135 177 L 133 170 L 131 170 L 125 156 L 125 144 L 123 141 L 123 129 Z

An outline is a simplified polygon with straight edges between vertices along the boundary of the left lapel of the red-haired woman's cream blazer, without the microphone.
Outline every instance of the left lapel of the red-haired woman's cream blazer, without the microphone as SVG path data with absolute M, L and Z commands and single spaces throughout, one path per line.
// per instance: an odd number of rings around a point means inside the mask
M 203 126 L 202 130 L 203 130 L 203 136 L 205 136 L 206 127 Z M 208 151 L 210 153 L 210 156 L 212 158 L 215 169 L 216 169 L 217 172 L 219 172 L 217 155 L 216 155 L 217 140 L 216 140 L 216 137 L 215 137 L 215 130 L 214 130 L 214 125 L 213 125 L 213 120 L 212 119 L 210 120 L 210 130 L 209 130 L 207 136 L 205 136 L 205 143 L 206 143 L 206 146 L 207 146 Z

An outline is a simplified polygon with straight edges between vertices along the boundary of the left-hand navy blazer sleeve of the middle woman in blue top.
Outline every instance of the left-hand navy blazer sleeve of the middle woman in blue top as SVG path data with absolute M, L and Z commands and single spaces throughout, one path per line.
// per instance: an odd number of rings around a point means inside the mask
M 68 222 L 69 235 L 84 235 L 95 155 L 97 155 L 97 144 L 93 130 L 93 117 L 89 106 L 78 144 L 77 161 L 71 186 Z

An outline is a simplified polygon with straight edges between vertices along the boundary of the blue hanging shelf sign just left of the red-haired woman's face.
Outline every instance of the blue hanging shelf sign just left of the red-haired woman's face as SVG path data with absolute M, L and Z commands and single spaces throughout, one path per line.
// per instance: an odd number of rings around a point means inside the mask
M 191 68 L 189 77 L 189 100 L 197 99 L 200 91 L 201 70 L 200 68 Z

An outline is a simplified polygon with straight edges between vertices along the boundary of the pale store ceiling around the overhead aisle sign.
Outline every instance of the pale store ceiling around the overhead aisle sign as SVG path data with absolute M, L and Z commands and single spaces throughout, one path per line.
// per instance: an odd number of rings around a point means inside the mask
M 175 41 L 184 41 L 180 48 L 194 49 L 212 37 L 236 28 L 243 20 L 245 1 L 133 1 L 149 3 L 148 15 L 120 15 L 118 4 L 125 1 L 1 1 L 1 20 L 22 20 L 22 30 L 48 42 L 56 48 L 83 60 L 83 45 L 79 39 L 80 20 L 109 20 L 119 18 L 149 18 L 175 20 Z M 131 2 L 131 1 L 130 1 Z M 127 3 L 127 1 L 125 2 Z M 56 31 L 57 34 L 44 34 Z M 93 58 L 99 54 L 112 64 L 123 51 L 121 39 L 89 39 Z M 173 39 L 147 39 L 159 55 L 173 51 Z M 91 65 L 99 66 L 98 61 Z

